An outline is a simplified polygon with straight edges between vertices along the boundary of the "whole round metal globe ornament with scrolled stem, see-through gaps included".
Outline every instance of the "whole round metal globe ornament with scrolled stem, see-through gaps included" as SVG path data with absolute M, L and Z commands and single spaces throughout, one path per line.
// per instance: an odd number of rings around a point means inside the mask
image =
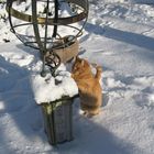
M 40 50 L 45 75 L 45 65 L 53 74 L 65 55 L 64 48 L 70 50 L 81 35 L 88 18 L 88 0 L 8 0 L 7 11 L 16 37 Z

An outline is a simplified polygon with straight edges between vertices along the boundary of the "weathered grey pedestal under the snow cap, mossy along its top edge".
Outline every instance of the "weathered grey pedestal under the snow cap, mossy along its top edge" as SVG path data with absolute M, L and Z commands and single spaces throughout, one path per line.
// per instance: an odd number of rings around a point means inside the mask
M 52 145 L 73 140 L 73 98 L 42 103 L 44 129 Z

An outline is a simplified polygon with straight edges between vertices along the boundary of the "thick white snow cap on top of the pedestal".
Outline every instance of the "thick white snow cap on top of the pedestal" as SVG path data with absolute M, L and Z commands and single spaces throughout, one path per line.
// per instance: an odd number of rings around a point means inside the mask
M 45 78 L 41 77 L 40 74 L 31 76 L 30 82 L 36 103 L 50 103 L 63 97 L 74 97 L 78 95 L 78 87 L 75 80 L 70 77 L 70 73 L 66 72 L 65 67 L 63 67 L 64 66 L 61 66 L 61 69 L 57 69 L 59 73 L 55 78 L 52 77 L 51 74 Z

